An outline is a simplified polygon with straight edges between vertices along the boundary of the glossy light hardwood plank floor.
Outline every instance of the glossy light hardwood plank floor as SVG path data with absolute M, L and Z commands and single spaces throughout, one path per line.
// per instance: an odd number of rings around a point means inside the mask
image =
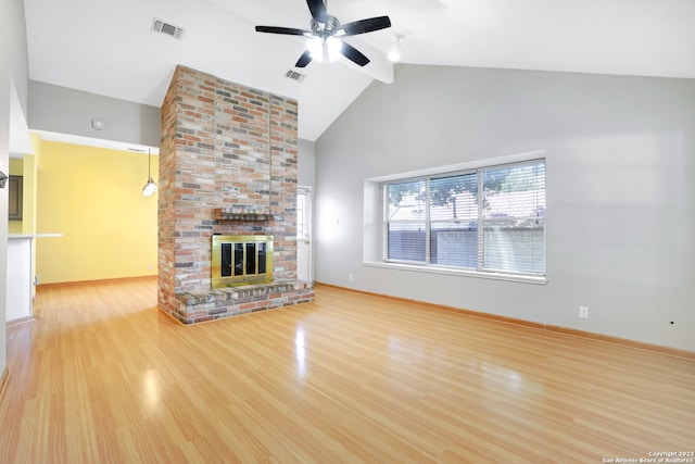
M 1 463 L 695 452 L 693 360 L 321 286 L 190 327 L 155 304 L 153 280 L 38 294 L 39 318 L 8 329 Z

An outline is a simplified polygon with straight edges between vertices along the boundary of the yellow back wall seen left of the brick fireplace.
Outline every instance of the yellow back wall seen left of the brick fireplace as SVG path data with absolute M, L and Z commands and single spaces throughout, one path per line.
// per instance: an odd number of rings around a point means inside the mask
M 148 156 L 41 141 L 36 269 L 40 284 L 156 275 L 156 199 Z M 157 181 L 157 156 L 152 177 Z

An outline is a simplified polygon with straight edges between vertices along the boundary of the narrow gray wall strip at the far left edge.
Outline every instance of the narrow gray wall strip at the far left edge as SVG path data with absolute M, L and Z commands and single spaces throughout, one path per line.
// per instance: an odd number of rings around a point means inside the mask
M 0 171 L 8 174 L 10 164 L 10 95 L 16 92 L 22 113 L 26 115 L 28 63 L 24 2 L 0 2 Z M 7 367 L 8 283 L 8 188 L 0 189 L 0 375 Z

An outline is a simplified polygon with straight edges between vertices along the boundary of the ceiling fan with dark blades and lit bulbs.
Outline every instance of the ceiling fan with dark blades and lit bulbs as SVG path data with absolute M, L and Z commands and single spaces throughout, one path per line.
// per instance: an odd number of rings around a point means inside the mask
M 257 33 L 311 37 L 306 43 L 306 51 L 302 53 L 294 65 L 296 67 L 305 67 L 313 59 L 332 61 L 338 54 L 342 54 L 348 60 L 364 66 L 369 63 L 369 59 L 350 43 L 340 40 L 340 37 L 356 36 L 391 27 L 389 16 L 377 16 L 340 24 L 336 16 L 331 16 L 326 12 L 324 0 L 306 0 L 306 3 L 312 13 L 312 30 L 292 27 L 256 26 Z

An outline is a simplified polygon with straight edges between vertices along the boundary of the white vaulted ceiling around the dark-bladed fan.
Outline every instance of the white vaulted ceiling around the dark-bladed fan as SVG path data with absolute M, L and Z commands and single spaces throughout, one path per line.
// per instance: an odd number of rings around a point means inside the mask
M 309 28 L 304 0 L 25 0 L 29 77 L 160 106 L 176 64 L 292 97 L 300 137 L 317 139 L 375 79 L 403 62 L 695 78 L 695 0 L 330 0 L 342 23 L 388 14 L 392 27 L 348 38 L 371 59 L 312 62 L 285 77 Z M 154 34 L 157 17 L 182 40 Z M 397 77 L 397 76 L 396 76 Z

